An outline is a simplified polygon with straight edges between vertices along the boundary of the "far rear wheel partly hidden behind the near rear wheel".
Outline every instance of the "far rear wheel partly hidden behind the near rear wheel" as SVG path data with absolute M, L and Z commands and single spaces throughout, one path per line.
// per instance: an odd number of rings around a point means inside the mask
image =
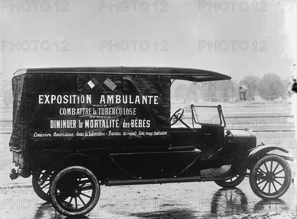
M 40 173 L 33 174 L 32 176 L 32 185 L 35 193 L 38 195 L 39 198 L 49 202 L 49 185 L 51 182 L 51 176 L 52 172 L 49 173 L 49 176 L 47 177 L 44 184 L 40 185 L 38 181 L 41 179 L 41 177 L 45 174 L 46 170 L 42 170 Z

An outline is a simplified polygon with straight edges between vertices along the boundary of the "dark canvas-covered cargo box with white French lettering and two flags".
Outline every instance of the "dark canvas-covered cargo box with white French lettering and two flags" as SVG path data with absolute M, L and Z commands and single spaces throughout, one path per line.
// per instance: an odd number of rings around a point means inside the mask
M 12 152 L 168 147 L 170 76 L 78 70 L 13 77 Z

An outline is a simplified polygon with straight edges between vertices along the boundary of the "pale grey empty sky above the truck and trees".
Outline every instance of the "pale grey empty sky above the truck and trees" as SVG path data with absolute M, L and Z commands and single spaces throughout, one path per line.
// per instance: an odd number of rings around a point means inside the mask
M 111 3 L 1 1 L 1 80 L 68 66 L 189 67 L 238 81 L 296 74 L 295 0 Z

